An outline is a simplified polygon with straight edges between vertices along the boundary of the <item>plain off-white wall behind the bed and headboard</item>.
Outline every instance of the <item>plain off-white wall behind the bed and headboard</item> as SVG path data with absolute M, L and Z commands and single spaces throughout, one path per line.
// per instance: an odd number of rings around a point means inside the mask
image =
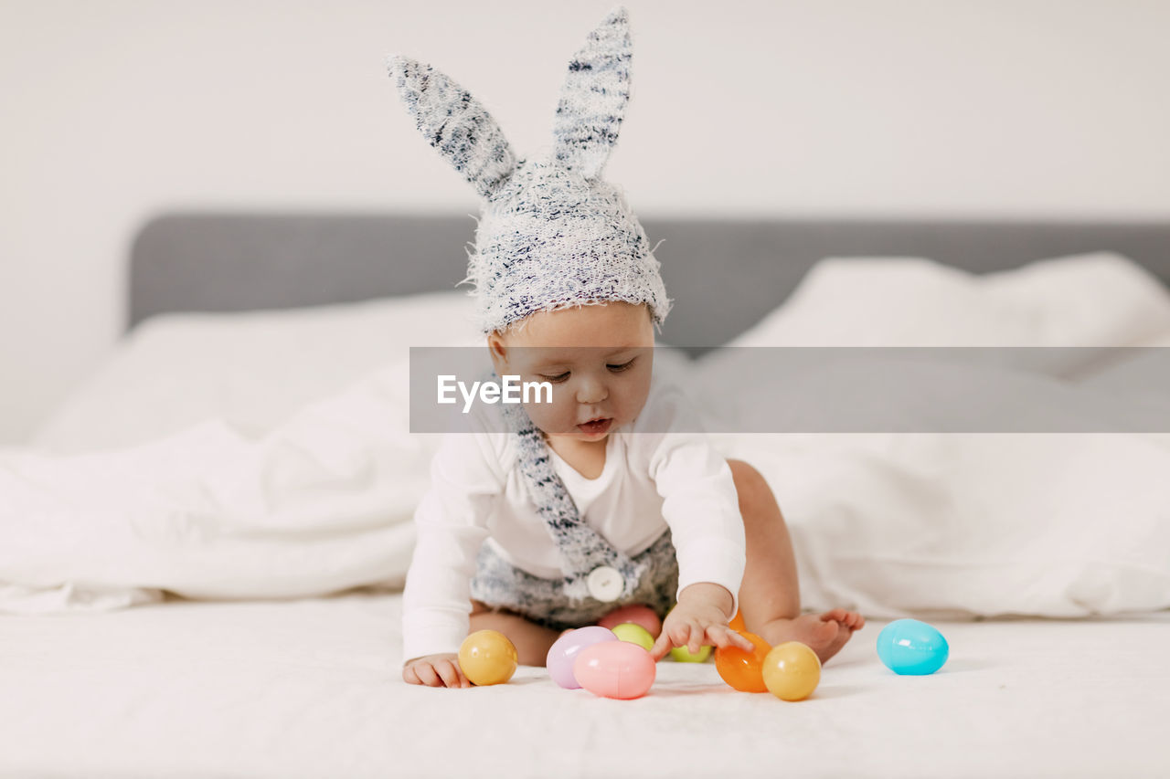
M 644 215 L 1170 215 L 1170 4 L 626 5 L 606 174 Z M 535 153 L 611 6 L 0 0 L 0 443 L 106 354 L 150 214 L 474 213 L 386 54 L 440 67 Z

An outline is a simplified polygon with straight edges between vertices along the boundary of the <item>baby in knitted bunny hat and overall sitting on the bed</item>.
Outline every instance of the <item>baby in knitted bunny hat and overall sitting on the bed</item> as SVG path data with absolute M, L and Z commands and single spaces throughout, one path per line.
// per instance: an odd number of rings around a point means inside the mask
M 696 433 L 653 372 L 672 301 L 646 234 L 601 179 L 628 102 L 629 33 L 612 12 L 570 61 L 553 152 L 517 159 L 468 92 L 428 66 L 391 75 L 432 145 L 484 200 L 470 257 L 496 375 L 552 386 L 551 402 L 479 406 L 448 434 L 415 515 L 402 678 L 469 687 L 457 649 L 491 628 L 543 666 L 562 632 L 645 604 L 651 650 L 800 641 L 821 661 L 865 625 L 801 614 L 796 560 L 764 478 Z M 464 281 L 468 281 L 464 280 Z

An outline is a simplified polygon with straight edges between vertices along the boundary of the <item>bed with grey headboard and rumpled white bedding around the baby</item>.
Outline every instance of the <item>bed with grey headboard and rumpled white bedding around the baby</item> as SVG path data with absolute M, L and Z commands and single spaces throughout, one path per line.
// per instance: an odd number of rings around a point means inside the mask
M 676 299 L 662 339 L 695 360 L 826 344 L 851 316 L 893 345 L 1170 346 L 1170 223 L 645 225 Z M 631 702 L 526 667 L 493 688 L 401 683 L 399 588 L 433 436 L 371 420 L 404 402 L 387 332 L 427 316 L 455 323 L 429 339 L 463 343 L 466 301 L 439 290 L 473 227 L 143 226 L 128 338 L 29 448 L 0 453 L 0 775 L 1170 773 L 1157 435 L 721 439 L 772 483 L 806 606 L 869 620 L 801 703 L 666 661 Z M 874 292 L 875 270 L 896 284 Z M 1079 367 L 1079 389 L 1166 393 L 1133 365 Z M 878 633 L 906 615 L 948 637 L 940 673 L 879 662 Z

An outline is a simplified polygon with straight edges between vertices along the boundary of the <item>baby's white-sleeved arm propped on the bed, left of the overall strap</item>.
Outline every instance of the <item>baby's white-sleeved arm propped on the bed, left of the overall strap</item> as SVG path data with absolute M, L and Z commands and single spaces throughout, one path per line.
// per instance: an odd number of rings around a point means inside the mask
M 467 636 L 475 558 L 502 476 L 482 434 L 448 434 L 431 463 L 431 489 L 414 513 L 418 542 L 402 592 L 402 681 L 470 687 L 457 652 Z

